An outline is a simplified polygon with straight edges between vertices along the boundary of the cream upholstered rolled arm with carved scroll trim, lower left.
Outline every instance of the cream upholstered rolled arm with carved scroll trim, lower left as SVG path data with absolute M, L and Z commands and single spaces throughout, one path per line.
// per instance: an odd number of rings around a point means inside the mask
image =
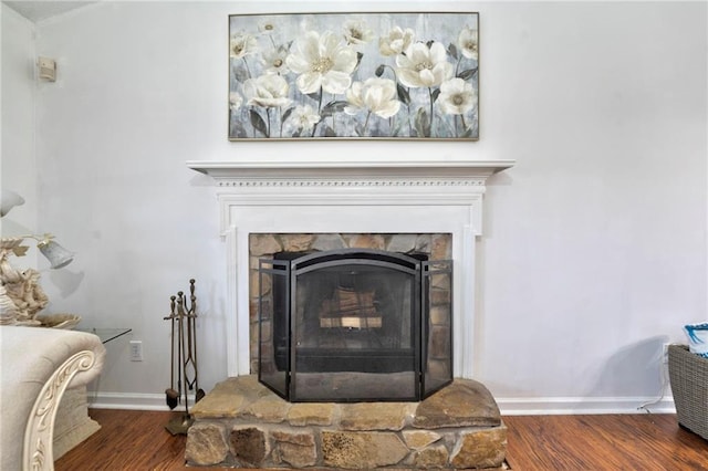
M 93 334 L 0 326 L 0 469 L 53 470 L 56 409 L 66 388 L 93 380 L 105 348 Z

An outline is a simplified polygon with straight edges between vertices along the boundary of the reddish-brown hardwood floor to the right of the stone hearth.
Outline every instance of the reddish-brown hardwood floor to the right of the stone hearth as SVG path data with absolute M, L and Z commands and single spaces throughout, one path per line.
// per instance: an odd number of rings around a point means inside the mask
M 708 470 L 708 440 L 674 415 L 504 417 L 512 470 Z

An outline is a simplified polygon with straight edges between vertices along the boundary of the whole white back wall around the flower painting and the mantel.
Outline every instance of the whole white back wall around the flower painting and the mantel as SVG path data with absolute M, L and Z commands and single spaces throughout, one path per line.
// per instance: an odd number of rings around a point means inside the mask
M 477 379 L 502 408 L 633 410 L 657 396 L 662 343 L 708 312 L 706 3 L 294 8 L 102 2 L 37 25 L 38 53 L 59 63 L 38 88 L 39 230 L 79 252 L 45 278 L 51 308 L 144 342 L 143 363 L 107 345 L 100 400 L 164 404 L 163 316 L 189 278 L 201 386 L 226 376 L 216 188 L 185 160 L 373 153 L 517 160 L 488 182 L 479 241 Z M 433 8 L 480 12 L 478 143 L 228 142 L 229 13 Z

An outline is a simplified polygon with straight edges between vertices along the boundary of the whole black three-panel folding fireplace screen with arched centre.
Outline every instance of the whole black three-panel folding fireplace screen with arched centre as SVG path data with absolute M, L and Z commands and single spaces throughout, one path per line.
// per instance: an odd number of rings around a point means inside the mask
M 291 401 L 420 400 L 452 380 L 452 269 L 363 249 L 259 261 L 259 380 Z

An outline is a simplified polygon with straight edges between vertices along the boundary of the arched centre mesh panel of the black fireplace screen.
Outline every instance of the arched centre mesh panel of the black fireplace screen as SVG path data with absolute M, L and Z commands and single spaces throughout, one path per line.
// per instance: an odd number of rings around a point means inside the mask
M 416 397 L 415 281 L 415 272 L 378 263 L 296 274 L 295 398 Z

